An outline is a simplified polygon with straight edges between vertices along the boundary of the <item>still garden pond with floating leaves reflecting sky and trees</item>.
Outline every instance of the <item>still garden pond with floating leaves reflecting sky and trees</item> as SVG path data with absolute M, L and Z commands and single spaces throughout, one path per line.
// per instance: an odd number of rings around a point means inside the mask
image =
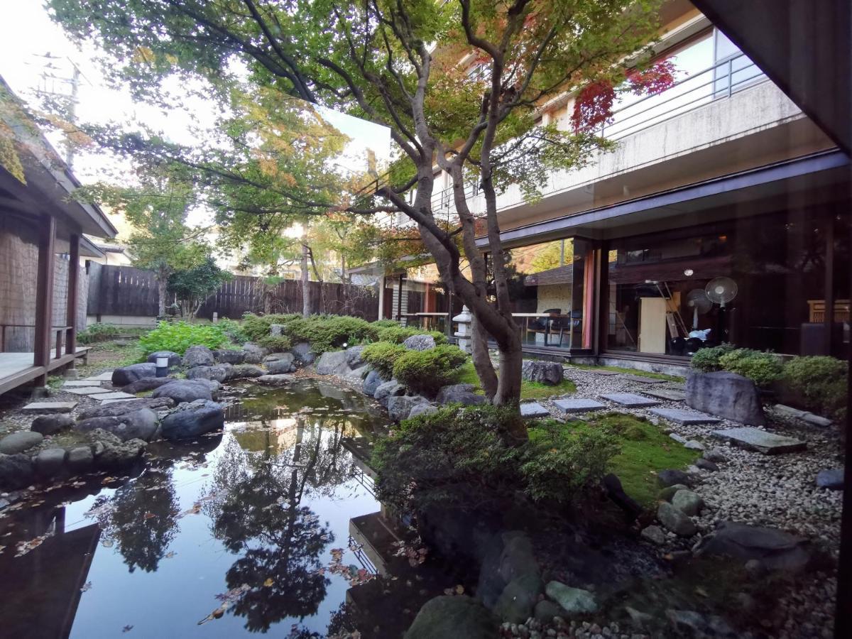
M 32 493 L 0 518 L 3 635 L 401 636 L 457 582 L 374 496 L 386 427 L 333 383 L 247 386 L 223 433 Z

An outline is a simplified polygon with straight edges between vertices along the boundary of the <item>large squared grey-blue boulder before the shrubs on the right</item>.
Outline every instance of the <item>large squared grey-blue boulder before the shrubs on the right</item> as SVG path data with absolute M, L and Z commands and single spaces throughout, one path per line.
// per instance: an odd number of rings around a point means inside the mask
M 757 386 L 751 379 L 732 372 L 690 373 L 687 405 L 733 422 L 757 426 L 766 423 Z

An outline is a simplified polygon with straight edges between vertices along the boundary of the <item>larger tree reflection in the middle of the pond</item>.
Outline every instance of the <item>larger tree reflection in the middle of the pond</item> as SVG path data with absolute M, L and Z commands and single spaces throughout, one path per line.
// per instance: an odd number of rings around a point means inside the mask
M 250 586 L 231 607 L 248 630 L 304 619 L 325 598 L 330 582 L 320 555 L 334 535 L 301 503 L 308 493 L 331 493 L 353 474 L 354 461 L 341 443 L 344 429 L 343 419 L 296 416 L 227 440 L 204 512 L 213 535 L 239 554 L 226 582 Z

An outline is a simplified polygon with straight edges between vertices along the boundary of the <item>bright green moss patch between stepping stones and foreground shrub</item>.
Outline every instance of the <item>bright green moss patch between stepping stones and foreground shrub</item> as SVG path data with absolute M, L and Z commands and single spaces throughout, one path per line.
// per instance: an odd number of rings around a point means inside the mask
M 657 499 L 659 470 L 682 469 L 698 457 L 697 452 L 684 448 L 653 423 L 626 413 L 611 412 L 590 422 L 560 424 L 559 428 L 565 429 L 567 436 L 581 429 L 606 428 L 618 433 L 621 452 L 610 460 L 609 470 L 618 475 L 625 492 L 646 507 Z M 530 429 L 531 438 L 535 430 Z

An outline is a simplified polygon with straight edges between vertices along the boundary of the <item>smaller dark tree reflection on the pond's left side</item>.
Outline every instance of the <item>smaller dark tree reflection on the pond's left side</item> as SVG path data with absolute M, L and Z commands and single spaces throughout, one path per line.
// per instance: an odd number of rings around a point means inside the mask
M 178 532 L 178 499 L 171 480 L 171 463 L 152 463 L 135 481 L 118 488 L 112 497 L 95 499 L 101 543 L 116 544 L 132 573 L 157 570 L 159 561 Z

